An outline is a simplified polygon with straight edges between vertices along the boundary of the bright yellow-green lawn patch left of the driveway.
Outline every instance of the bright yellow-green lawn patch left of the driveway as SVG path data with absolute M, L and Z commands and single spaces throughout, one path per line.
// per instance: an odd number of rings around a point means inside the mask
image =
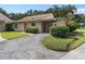
M 14 39 L 14 38 L 27 36 L 27 34 L 18 33 L 18 31 L 3 31 L 0 34 L 4 39 Z

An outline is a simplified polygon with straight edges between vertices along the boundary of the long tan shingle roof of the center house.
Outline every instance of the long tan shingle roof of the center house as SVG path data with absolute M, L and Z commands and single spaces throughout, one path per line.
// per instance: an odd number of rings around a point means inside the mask
M 30 21 L 52 21 L 55 20 L 54 15 L 52 13 L 47 14 L 40 14 L 40 15 L 34 15 L 34 16 L 26 16 L 22 20 L 18 20 L 16 22 L 30 22 Z

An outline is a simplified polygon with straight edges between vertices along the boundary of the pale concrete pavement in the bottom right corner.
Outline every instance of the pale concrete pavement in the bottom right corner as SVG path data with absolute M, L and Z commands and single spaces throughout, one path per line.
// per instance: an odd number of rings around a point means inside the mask
M 67 53 L 61 60 L 85 60 L 85 43 Z

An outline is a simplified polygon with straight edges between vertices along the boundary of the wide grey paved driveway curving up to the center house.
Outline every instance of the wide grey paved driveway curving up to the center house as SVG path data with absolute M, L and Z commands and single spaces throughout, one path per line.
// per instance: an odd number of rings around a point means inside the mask
M 1 41 L 1 60 L 57 60 L 67 52 L 52 51 L 40 42 L 47 34 L 31 35 L 18 39 Z

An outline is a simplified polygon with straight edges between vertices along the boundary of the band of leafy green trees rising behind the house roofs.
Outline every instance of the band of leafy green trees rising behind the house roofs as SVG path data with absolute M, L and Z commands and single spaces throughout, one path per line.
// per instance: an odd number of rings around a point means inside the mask
M 55 17 L 66 17 L 69 13 L 74 14 L 76 8 L 74 5 L 53 5 L 49 9 L 43 10 L 28 10 L 25 13 L 8 13 L 5 10 L 0 8 L 0 13 L 9 16 L 10 18 L 16 21 L 20 20 L 25 16 L 31 16 L 37 14 L 45 14 L 45 13 L 53 13 Z

